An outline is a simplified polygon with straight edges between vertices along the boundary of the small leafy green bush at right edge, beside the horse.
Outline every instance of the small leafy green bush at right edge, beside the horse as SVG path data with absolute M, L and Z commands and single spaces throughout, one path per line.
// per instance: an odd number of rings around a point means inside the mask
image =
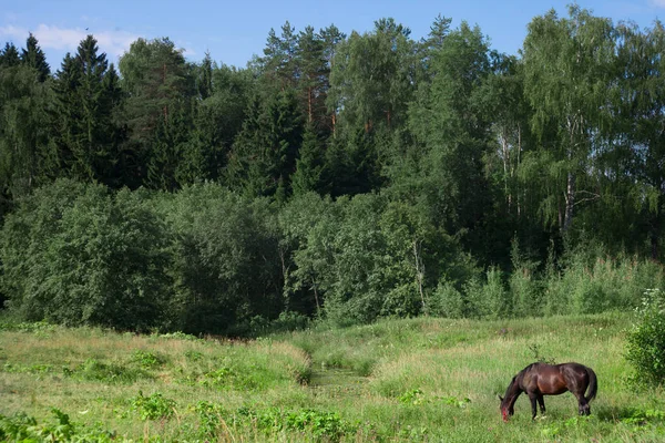
M 627 336 L 626 359 L 635 368 L 637 381 L 665 382 L 665 293 L 647 289 L 638 309 L 640 322 Z

